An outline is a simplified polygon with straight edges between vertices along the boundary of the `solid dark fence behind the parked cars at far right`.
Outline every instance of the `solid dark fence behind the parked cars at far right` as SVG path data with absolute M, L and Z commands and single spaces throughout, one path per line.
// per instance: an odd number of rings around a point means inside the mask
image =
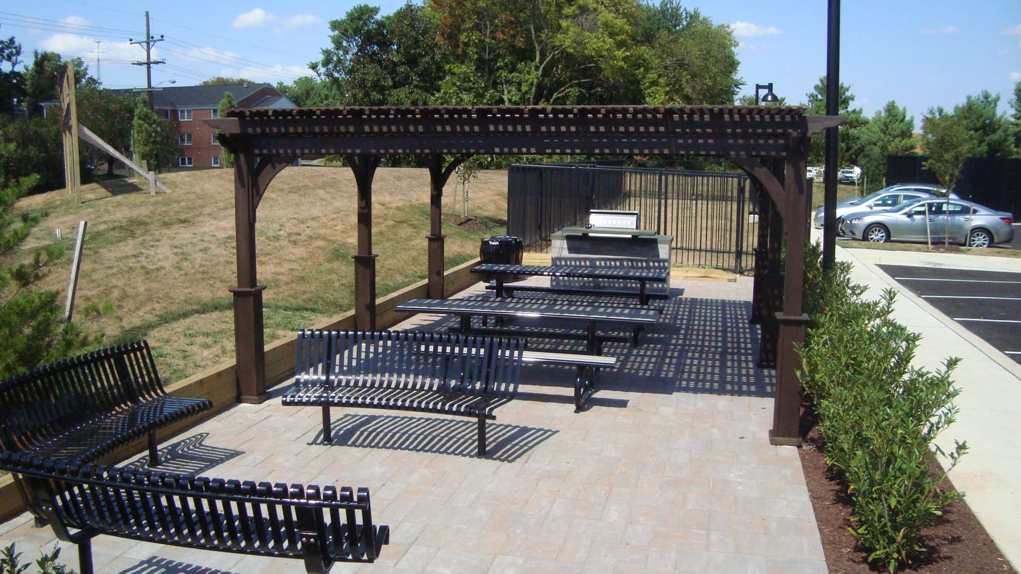
M 922 168 L 926 159 L 924 155 L 887 156 L 886 184 L 938 184 L 932 172 Z M 1021 159 L 1017 157 L 969 157 L 955 187 L 965 199 L 1021 218 Z

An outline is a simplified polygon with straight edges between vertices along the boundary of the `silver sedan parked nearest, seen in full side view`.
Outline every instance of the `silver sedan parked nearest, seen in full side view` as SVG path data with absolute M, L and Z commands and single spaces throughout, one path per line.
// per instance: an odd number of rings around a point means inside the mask
M 844 237 L 886 241 L 943 242 L 988 247 L 1014 240 L 1013 216 L 962 199 L 915 199 L 886 210 L 858 211 L 840 222 Z M 928 230 L 928 231 L 926 231 Z M 947 235 L 949 232 L 949 235 Z

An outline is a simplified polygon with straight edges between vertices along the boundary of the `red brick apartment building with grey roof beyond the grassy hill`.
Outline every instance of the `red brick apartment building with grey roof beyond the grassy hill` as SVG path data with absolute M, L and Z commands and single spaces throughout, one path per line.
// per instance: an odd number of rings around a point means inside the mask
M 178 129 L 178 156 L 167 161 L 171 166 L 220 166 L 220 143 L 202 119 L 218 116 L 225 92 L 234 96 L 239 109 L 298 107 L 272 84 L 166 86 L 154 90 L 152 106 L 156 115 L 171 119 Z

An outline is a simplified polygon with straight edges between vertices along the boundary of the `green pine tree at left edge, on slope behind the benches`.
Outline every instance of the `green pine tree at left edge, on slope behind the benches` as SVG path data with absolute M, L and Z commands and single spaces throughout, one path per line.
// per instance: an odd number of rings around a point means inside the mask
M 0 152 L 9 153 L 10 148 L 2 145 Z M 18 247 L 42 214 L 11 211 L 37 179 L 33 175 L 8 180 L 0 173 L 0 379 L 62 358 L 90 343 L 74 324 L 61 325 L 58 293 L 38 288 L 63 246 L 49 245 L 18 262 Z

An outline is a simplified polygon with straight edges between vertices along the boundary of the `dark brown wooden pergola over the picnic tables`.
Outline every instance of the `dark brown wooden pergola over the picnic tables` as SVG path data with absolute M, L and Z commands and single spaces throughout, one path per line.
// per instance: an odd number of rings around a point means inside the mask
M 262 291 L 255 256 L 259 200 L 273 178 L 297 158 L 343 156 L 357 185 L 355 325 L 376 328 L 376 257 L 373 253 L 373 176 L 387 155 L 425 158 L 430 174 L 429 296 L 443 296 L 443 186 L 475 154 L 640 155 L 725 157 L 746 172 L 766 199 L 771 225 L 760 233 L 757 258 L 780 257 L 786 243 L 782 308 L 769 304 L 768 282 L 757 265 L 757 319 L 775 313 L 777 385 L 771 440 L 796 444 L 800 386 L 794 344 L 804 340 L 804 244 L 809 221 L 806 165 L 810 135 L 842 118 L 807 116 L 800 107 L 766 106 L 550 106 L 342 107 L 235 110 L 208 119 L 234 154 L 238 284 L 234 325 L 239 399 L 266 398 Z M 782 222 L 782 223 L 781 223 Z M 782 231 L 781 231 L 782 230 Z M 778 277 L 778 273 L 773 274 Z M 765 276 L 764 276 L 765 277 Z M 765 310 L 763 310 L 765 309 Z M 772 320 L 767 317 L 764 322 Z M 767 330 L 764 329 L 764 333 Z

